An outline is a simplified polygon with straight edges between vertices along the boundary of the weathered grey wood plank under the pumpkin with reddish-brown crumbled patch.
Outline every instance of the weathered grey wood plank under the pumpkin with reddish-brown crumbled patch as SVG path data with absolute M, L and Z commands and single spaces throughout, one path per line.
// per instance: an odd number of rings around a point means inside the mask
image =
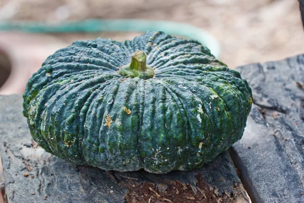
M 63 161 L 32 143 L 21 95 L 0 96 L 0 151 L 11 202 L 250 202 L 227 152 L 203 167 L 154 175 Z M 28 176 L 27 176 L 28 175 Z M 27 177 L 25 177 L 27 176 Z

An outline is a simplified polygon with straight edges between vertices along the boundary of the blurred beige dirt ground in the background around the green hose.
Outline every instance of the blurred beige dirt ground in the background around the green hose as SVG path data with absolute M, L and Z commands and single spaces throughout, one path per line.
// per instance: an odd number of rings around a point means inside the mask
M 186 22 L 206 29 L 231 68 L 304 53 L 296 0 L 0 0 L 0 20 L 50 23 L 87 18 L 139 18 Z M 133 34 L 107 33 L 112 39 Z M 83 35 L 57 36 L 68 42 Z M 95 38 L 96 35 L 85 38 Z

